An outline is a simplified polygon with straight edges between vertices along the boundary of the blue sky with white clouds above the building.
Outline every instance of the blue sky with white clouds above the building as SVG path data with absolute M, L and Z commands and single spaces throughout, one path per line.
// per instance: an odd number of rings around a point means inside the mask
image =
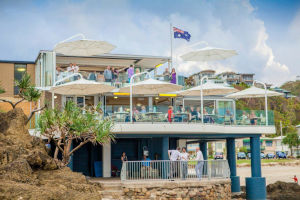
M 0 59 L 34 60 L 41 49 L 76 33 L 117 46 L 112 53 L 170 55 L 169 23 L 192 35 L 174 40 L 178 73 L 255 73 L 279 85 L 300 75 L 300 1 L 296 0 L 62 0 L 0 1 Z M 198 43 L 191 47 L 191 45 Z M 238 56 L 209 63 L 180 55 L 208 46 Z

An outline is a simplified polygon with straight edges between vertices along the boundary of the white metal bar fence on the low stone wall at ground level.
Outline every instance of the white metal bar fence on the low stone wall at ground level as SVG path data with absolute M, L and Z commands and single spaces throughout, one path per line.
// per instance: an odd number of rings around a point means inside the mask
M 230 177 L 227 160 L 125 161 L 121 180 L 216 179 Z

